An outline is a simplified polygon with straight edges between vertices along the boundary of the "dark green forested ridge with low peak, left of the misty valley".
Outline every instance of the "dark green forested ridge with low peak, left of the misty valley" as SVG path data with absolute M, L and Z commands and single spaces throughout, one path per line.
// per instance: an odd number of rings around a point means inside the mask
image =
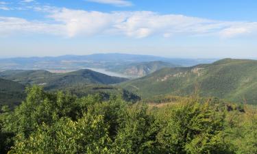
M 0 77 L 25 85 L 44 86 L 46 90 L 85 84 L 117 84 L 127 81 L 125 78 L 112 77 L 88 69 L 71 73 L 50 73 L 47 70 L 6 70 L 0 73 Z

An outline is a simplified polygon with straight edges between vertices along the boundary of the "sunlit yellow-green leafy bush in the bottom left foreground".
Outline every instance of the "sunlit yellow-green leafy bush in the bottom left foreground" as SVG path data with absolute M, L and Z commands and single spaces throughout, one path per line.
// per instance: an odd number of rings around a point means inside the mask
M 32 135 L 18 141 L 11 153 L 108 153 L 108 125 L 103 116 L 84 115 L 77 121 L 61 118 L 43 123 Z

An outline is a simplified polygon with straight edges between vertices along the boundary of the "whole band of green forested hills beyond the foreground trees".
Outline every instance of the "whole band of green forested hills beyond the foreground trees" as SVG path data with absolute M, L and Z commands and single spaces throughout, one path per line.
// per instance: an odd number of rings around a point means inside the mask
M 108 68 L 112 70 L 111 68 Z M 45 90 L 71 90 L 88 94 L 119 89 L 130 91 L 143 99 L 157 96 L 187 96 L 193 92 L 200 97 L 217 97 L 232 102 L 257 102 L 257 61 L 223 59 L 211 64 L 176 66 L 169 62 L 140 62 L 113 68 L 119 73 L 140 78 L 112 77 L 93 70 L 69 73 L 47 70 L 5 70 L 0 73 L 1 94 L 10 92 L 22 96 L 25 86 L 39 85 Z M 145 76 L 146 75 L 146 76 Z M 9 83 L 9 84 L 6 84 Z M 79 89 L 79 90 L 76 90 Z M 115 92 L 114 92 L 115 93 Z M 20 95 L 21 94 L 21 95 Z M 2 97 L 3 98 L 3 97 Z

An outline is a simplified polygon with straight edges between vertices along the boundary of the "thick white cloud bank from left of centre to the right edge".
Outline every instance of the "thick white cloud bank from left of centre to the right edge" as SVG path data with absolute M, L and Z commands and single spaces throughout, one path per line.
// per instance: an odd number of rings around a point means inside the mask
M 222 37 L 256 31 L 257 23 L 213 21 L 178 14 L 156 12 L 86 12 L 62 9 L 49 16 L 66 27 L 68 36 L 94 34 L 120 34 L 134 38 L 151 35 L 164 37 L 176 35 L 219 35 Z M 233 29 L 237 33 L 232 33 Z M 245 30 L 243 30 L 245 29 Z

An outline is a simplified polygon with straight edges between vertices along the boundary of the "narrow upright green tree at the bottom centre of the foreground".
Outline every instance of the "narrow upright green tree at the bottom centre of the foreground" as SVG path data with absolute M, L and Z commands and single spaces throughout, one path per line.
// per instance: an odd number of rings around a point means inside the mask
M 147 107 L 136 105 L 127 110 L 123 123 L 114 140 L 116 153 L 151 153 L 154 149 L 150 129 L 154 118 L 147 114 Z

